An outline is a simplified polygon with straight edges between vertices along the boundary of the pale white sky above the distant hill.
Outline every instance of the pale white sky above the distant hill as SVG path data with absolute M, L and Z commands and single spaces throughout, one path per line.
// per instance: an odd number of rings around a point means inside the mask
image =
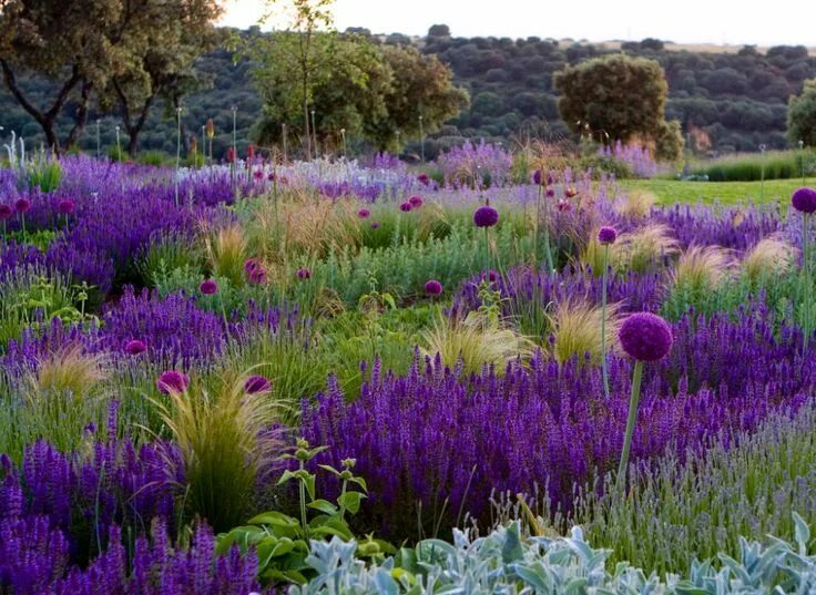
M 279 6 L 286 0 L 278 0 Z M 335 27 L 425 35 L 435 23 L 455 37 L 657 38 L 677 43 L 816 47 L 816 1 L 779 0 L 335 0 Z M 483 7 L 483 8 L 482 8 Z M 222 24 L 247 28 L 263 0 L 225 0 Z M 267 29 L 268 27 L 265 27 Z

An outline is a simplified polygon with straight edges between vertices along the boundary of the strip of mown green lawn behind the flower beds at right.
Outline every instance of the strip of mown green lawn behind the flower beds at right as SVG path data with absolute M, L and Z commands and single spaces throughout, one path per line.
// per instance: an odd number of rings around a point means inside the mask
M 808 178 L 807 184 L 816 181 Z M 663 205 L 674 203 L 718 203 L 735 205 L 746 203 L 779 203 L 790 198 L 790 194 L 802 186 L 802 178 L 768 179 L 764 188 L 759 182 L 681 182 L 677 179 L 622 179 L 624 189 L 653 192 Z

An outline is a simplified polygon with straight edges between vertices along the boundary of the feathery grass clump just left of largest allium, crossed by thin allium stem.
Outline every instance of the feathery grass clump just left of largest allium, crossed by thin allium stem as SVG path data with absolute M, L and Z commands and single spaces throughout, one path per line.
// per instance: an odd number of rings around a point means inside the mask
M 603 311 L 584 299 L 567 299 L 555 305 L 548 315 L 552 329 L 552 355 L 555 361 L 564 363 L 572 358 L 583 361 L 589 356 L 592 363 L 600 363 L 602 345 L 601 327 L 604 326 L 608 350 L 618 345 L 620 306 L 606 305 L 606 324 L 602 325 Z

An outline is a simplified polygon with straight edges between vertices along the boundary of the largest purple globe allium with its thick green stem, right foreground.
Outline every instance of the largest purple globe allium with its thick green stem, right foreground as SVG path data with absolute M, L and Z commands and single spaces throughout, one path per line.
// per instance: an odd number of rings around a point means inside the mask
M 623 452 L 618 466 L 618 481 L 622 482 L 629 464 L 629 449 L 638 418 L 638 401 L 641 397 L 643 362 L 660 361 L 672 349 L 672 328 L 660 316 L 651 312 L 631 315 L 618 331 L 621 348 L 634 359 L 632 372 L 632 394 L 629 400 L 629 417 L 623 439 Z M 621 483 L 622 484 L 622 483 Z

